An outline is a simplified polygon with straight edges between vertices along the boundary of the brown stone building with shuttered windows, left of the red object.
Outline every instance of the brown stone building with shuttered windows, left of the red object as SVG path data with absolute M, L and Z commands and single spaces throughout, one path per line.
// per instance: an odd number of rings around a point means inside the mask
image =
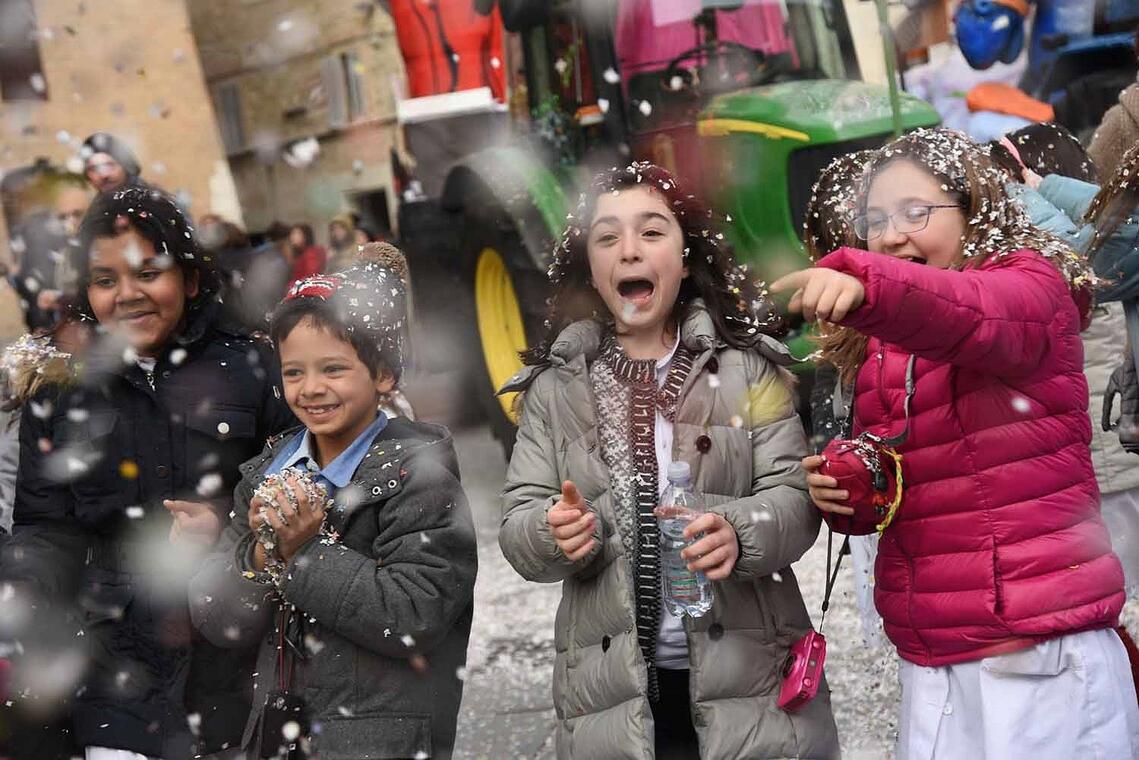
M 272 221 L 309 222 L 325 239 L 327 223 L 352 209 L 358 193 L 386 189 L 391 218 L 390 148 L 395 139 L 395 93 L 403 65 L 391 18 L 358 0 L 194 0 L 191 24 L 219 119 L 230 91 L 240 121 L 229 163 L 251 230 Z M 342 54 L 355 57 L 360 108 L 337 108 L 330 77 L 344 73 Z M 339 70 L 338 70 L 339 67 Z M 346 87 L 343 79 L 342 84 Z M 346 95 L 346 90 L 339 92 Z M 285 154 L 314 139 L 319 154 L 293 166 Z

